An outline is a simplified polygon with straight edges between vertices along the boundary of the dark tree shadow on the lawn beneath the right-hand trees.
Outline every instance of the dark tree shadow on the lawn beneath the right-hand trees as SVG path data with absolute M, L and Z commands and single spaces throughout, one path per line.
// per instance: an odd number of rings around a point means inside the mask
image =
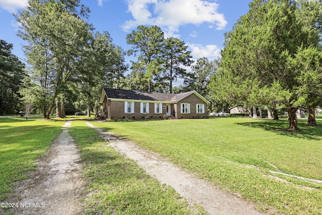
M 308 140 L 321 140 L 322 138 L 322 127 L 308 126 L 306 125 L 305 120 L 298 120 L 298 127 L 300 131 L 289 130 L 288 120 L 254 119 L 252 122 L 240 122 L 235 124 L 247 127 L 262 128 L 279 135 L 304 138 Z

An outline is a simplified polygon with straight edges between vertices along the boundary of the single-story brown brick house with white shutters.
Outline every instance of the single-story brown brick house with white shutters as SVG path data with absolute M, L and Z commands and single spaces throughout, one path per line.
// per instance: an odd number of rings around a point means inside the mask
M 104 88 L 100 104 L 105 119 L 207 118 L 209 102 L 196 91 L 180 94 Z

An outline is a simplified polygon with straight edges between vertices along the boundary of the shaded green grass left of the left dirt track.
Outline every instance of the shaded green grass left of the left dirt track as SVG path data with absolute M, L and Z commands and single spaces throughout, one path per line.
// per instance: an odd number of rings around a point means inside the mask
M 62 122 L 39 118 L 0 118 L 0 201 L 10 196 L 15 181 L 28 178 L 26 172 L 35 170 L 37 158 L 61 132 Z

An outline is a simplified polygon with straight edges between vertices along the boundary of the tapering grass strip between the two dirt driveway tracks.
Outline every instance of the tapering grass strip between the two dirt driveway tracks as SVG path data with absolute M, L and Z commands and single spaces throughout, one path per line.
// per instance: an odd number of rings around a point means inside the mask
M 72 122 L 69 132 L 85 165 L 86 214 L 205 214 L 198 207 L 189 208 L 173 188 L 159 184 L 134 161 L 107 146 L 84 122 Z

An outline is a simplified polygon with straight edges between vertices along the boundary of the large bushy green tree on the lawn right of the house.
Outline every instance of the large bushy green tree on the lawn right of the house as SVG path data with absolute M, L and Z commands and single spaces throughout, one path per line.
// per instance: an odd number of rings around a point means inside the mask
M 305 75 L 304 63 L 298 63 L 295 69 L 293 61 L 299 57 L 300 50 L 320 45 L 322 5 L 319 1 L 255 0 L 249 6 L 248 14 L 226 34 L 220 73 L 213 78 L 209 89 L 214 92 L 222 88 L 217 99 L 232 104 L 276 107 L 283 103 L 289 112 L 290 128 L 297 129 L 295 112 L 307 102 L 304 99 L 307 92 L 303 93 L 301 85 L 306 80 L 305 85 L 312 87 L 315 81 L 305 78 L 309 76 Z M 310 76 L 319 76 L 316 68 L 311 69 Z M 227 77 L 229 81 L 224 80 Z M 277 89 L 282 92 L 276 93 Z M 263 91 L 266 95 L 271 93 L 266 98 L 274 100 L 260 98 Z

